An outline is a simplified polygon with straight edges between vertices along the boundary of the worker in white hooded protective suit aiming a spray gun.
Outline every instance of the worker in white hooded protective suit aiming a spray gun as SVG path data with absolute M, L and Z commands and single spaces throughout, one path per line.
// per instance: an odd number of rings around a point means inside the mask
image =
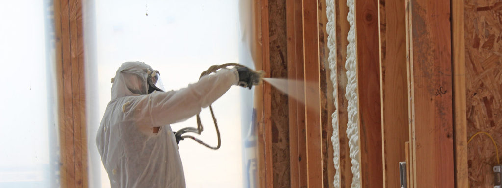
M 199 113 L 232 85 L 251 88 L 252 74 L 245 67 L 222 69 L 164 92 L 156 86 L 158 71 L 142 62 L 123 63 L 112 79 L 111 101 L 96 134 L 111 187 L 185 187 L 170 124 Z

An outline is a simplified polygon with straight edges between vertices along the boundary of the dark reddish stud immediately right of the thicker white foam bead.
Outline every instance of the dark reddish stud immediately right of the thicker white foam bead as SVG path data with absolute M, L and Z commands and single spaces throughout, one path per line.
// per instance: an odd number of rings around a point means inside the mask
M 383 187 L 378 1 L 355 1 L 362 187 Z

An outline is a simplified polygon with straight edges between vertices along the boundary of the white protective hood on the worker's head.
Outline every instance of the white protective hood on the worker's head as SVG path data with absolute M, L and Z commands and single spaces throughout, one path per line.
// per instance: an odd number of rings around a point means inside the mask
M 118 68 L 111 79 L 111 100 L 126 96 L 148 94 L 148 75 L 154 69 L 143 62 L 126 62 Z

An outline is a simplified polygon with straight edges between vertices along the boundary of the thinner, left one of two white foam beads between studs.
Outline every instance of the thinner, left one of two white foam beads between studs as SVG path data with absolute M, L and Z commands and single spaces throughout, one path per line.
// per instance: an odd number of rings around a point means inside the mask
M 328 48 L 329 48 L 329 69 L 331 70 L 330 79 L 333 83 L 333 100 L 335 102 L 335 111 L 331 115 L 333 135 L 331 142 L 333 143 L 333 163 L 335 164 L 335 180 L 333 185 L 335 188 L 340 187 L 340 137 L 338 136 L 338 82 L 336 79 L 336 30 L 335 30 L 335 10 L 334 0 L 326 0 L 326 14 L 328 16 L 328 24 L 326 25 L 326 32 L 328 33 Z

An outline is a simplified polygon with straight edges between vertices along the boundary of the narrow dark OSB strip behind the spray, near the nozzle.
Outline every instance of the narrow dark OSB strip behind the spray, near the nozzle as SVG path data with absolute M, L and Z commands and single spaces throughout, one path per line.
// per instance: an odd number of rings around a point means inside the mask
M 270 76 L 287 78 L 286 1 L 269 0 Z M 271 88 L 274 187 L 290 187 L 288 96 Z

